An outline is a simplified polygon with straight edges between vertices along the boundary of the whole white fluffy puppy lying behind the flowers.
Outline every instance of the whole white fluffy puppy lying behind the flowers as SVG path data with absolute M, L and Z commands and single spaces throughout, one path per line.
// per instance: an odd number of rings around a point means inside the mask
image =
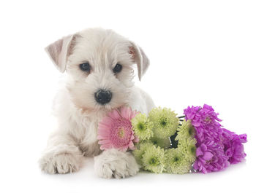
M 59 127 L 39 159 L 40 168 L 46 173 L 71 173 L 79 170 L 83 157 L 94 157 L 100 177 L 134 176 L 139 167 L 130 152 L 99 149 L 97 126 L 112 109 L 130 106 L 148 114 L 154 107 L 146 92 L 132 82 L 133 64 L 139 79 L 149 66 L 143 50 L 101 28 L 66 36 L 45 50 L 67 76 L 53 105 Z

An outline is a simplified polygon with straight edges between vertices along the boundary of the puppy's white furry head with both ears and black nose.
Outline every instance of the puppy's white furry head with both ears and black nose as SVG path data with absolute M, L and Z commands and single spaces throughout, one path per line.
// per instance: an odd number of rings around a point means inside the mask
M 139 79 L 149 60 L 133 42 L 110 30 L 87 29 L 46 47 L 59 71 L 68 74 L 67 89 L 82 109 L 114 109 L 129 100 L 133 64 Z

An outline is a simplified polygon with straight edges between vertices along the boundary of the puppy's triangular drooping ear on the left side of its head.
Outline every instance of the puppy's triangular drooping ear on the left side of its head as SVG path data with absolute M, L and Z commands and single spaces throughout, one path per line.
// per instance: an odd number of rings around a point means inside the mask
M 50 59 L 62 73 L 66 70 L 67 58 L 72 50 L 72 41 L 75 35 L 65 36 L 45 47 Z

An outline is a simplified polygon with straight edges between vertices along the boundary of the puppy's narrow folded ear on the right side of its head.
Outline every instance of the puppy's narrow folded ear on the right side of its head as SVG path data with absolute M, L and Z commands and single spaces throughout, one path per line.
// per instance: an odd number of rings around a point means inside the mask
M 135 63 L 137 63 L 138 76 L 141 80 L 142 76 L 146 73 L 146 70 L 148 69 L 149 60 L 143 50 L 138 47 L 138 45 L 136 45 L 134 42 L 131 42 L 131 44 L 132 46 L 129 47 L 129 54 L 132 55 Z

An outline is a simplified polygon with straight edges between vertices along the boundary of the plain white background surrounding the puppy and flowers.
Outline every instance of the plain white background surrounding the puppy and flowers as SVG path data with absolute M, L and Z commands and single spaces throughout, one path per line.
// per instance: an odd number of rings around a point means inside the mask
M 1 1 L 0 192 L 254 192 L 255 1 Z M 105 180 L 86 159 L 78 173 L 41 173 L 61 74 L 44 47 L 83 28 L 111 28 L 151 60 L 142 82 L 157 106 L 182 114 L 207 103 L 247 133 L 246 162 L 219 173 L 139 173 Z

